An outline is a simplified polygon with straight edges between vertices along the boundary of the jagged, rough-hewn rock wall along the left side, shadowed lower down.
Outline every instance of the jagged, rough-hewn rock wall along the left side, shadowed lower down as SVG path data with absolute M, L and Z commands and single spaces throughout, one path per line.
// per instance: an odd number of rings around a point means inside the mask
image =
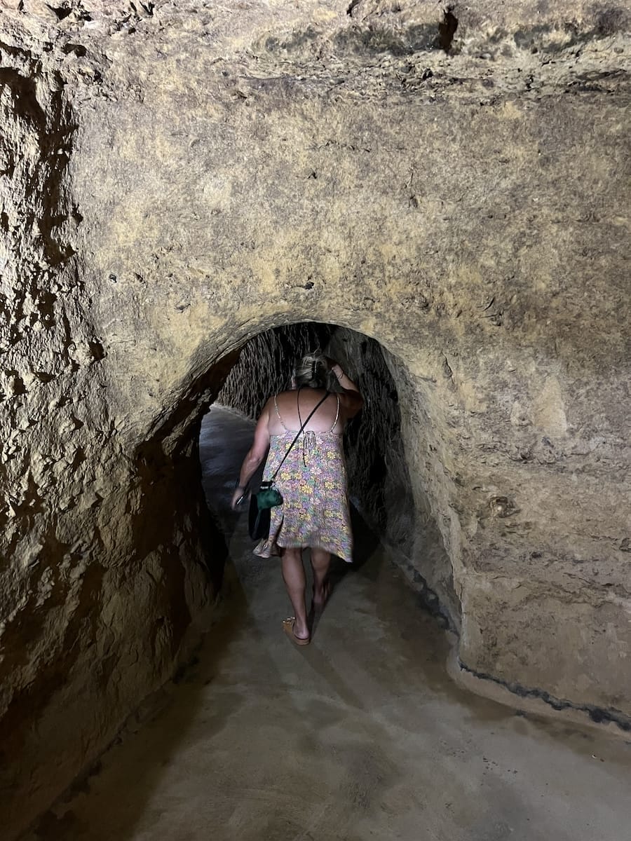
M 196 436 L 175 436 L 185 458 L 163 452 L 162 430 L 119 445 L 72 194 L 77 114 L 38 45 L 12 35 L 0 38 L 3 838 L 172 674 L 215 577 L 201 496 L 172 494 L 199 486 Z

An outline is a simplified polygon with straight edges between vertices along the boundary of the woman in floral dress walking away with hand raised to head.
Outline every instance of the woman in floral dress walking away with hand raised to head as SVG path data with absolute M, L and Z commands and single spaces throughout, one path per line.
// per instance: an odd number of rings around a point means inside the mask
M 336 381 L 340 390 L 331 393 L 327 383 Z M 292 385 L 293 389 L 275 394 L 263 407 L 254 443 L 241 466 L 232 507 L 245 494 L 268 450 L 263 480 L 272 478 L 305 419 L 315 410 L 278 471 L 275 483 L 283 503 L 272 508 L 269 536 L 254 550 L 261 558 L 280 555 L 285 587 L 294 607 L 294 616 L 283 623 L 284 631 L 297 645 L 307 645 L 310 628 L 303 550 L 311 550 L 314 611 L 324 608 L 329 595 L 331 554 L 348 563 L 353 559 L 342 432 L 362 408 L 363 399 L 337 362 L 317 353 L 296 364 Z

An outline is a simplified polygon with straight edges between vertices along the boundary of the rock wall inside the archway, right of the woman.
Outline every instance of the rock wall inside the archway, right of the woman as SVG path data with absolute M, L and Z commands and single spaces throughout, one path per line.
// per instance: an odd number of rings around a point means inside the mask
M 432 418 L 411 418 L 416 395 L 406 366 L 374 339 L 342 329 L 331 336 L 331 356 L 353 372 L 365 400 L 347 428 L 350 492 L 363 516 L 387 543 L 429 608 L 459 631 L 460 602 L 453 569 L 432 510 L 422 459 L 432 441 Z

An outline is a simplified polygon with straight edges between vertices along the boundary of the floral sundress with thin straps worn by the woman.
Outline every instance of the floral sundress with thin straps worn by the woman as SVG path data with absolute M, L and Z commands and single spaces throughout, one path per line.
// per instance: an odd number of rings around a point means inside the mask
M 295 431 L 284 425 L 280 435 L 270 436 L 263 481 L 271 479 L 294 440 Z M 333 432 L 340 412 L 328 432 L 304 431 L 295 442 L 276 477 L 283 504 L 271 509 L 269 537 L 254 553 L 261 558 L 278 555 L 279 548 L 320 547 L 351 563 L 353 535 L 347 497 L 347 474 L 342 435 Z

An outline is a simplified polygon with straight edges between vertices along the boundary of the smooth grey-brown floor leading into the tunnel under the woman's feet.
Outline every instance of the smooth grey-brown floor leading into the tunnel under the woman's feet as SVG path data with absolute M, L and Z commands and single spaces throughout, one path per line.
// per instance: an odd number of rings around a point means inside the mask
M 215 625 L 29 841 L 629 838 L 631 742 L 454 685 L 446 633 L 361 524 L 312 643 L 290 643 L 278 560 L 228 506 L 252 428 L 204 420 L 228 553 Z

